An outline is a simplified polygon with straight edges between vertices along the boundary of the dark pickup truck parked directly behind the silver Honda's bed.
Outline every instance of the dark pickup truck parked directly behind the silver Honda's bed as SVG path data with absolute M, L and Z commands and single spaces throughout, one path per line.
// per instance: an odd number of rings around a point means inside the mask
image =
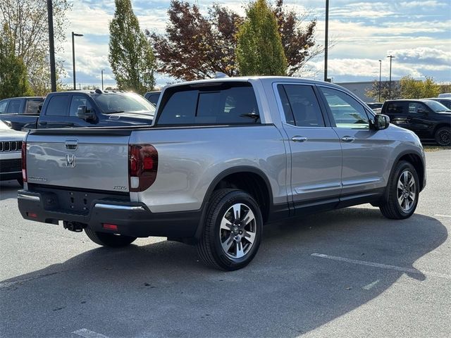
M 39 115 L 1 114 L 14 130 L 150 125 L 155 107 L 135 93 L 68 91 L 47 95 Z

